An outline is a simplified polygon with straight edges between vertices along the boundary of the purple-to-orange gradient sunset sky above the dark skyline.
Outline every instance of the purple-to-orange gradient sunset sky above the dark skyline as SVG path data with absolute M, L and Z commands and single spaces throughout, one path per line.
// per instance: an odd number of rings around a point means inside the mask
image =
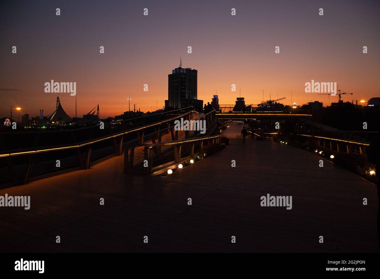
M 131 109 L 146 112 L 156 99 L 161 108 L 180 56 L 182 67 L 198 70 L 204 102 L 217 90 L 220 104 L 234 104 L 241 87 L 246 104 L 260 103 L 262 90 L 264 99 L 287 97 L 284 104 L 328 104 L 327 96 L 304 92 L 312 79 L 354 93 L 344 101 L 380 96 L 379 1 L 9 2 L 0 11 L 0 117 L 10 106 L 47 115 L 57 95 L 73 117 L 75 97 L 44 92 L 51 79 L 76 82 L 79 117 L 97 104 L 101 117 L 119 115 L 127 98 Z

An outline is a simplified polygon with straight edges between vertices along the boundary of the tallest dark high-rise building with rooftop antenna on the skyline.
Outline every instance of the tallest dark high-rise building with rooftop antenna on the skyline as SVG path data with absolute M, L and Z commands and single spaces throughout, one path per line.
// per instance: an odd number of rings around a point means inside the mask
M 165 100 L 165 108 L 192 105 L 198 109 L 199 105 L 203 106 L 203 101 L 197 99 L 197 73 L 195 69 L 182 68 L 182 61 L 178 68 L 172 70 L 168 75 L 168 100 Z

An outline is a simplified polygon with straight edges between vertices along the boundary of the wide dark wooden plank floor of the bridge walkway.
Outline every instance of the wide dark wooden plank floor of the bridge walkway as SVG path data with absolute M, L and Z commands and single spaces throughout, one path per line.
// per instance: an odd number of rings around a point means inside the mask
M 373 184 L 327 161 L 320 168 L 314 154 L 269 139 L 243 144 L 240 129 L 231 123 L 223 151 L 166 178 L 124 174 L 123 157 L 114 157 L 1 189 L 30 195 L 31 206 L 0 208 L 0 251 L 378 251 Z M 261 207 L 266 194 L 291 195 L 293 209 Z

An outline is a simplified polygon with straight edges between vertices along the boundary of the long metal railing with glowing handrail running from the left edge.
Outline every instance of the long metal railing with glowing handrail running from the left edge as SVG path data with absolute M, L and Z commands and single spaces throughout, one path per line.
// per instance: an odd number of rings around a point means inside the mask
M 192 113 L 193 107 L 190 106 L 157 115 L 106 123 L 105 127 L 110 129 L 100 129 L 100 125 L 96 125 L 67 131 L 1 133 L 0 183 L 13 180 L 14 185 L 20 185 L 28 183 L 31 176 L 79 166 L 81 169 L 88 169 L 91 162 L 113 154 L 121 155 L 123 142 L 133 141 L 141 135 L 144 137 L 144 133 L 149 134 L 161 127 L 170 127 L 178 118 L 191 118 Z M 5 140 L 4 137 L 9 138 Z M 10 149 L 6 143 L 12 139 L 13 143 L 22 140 L 27 147 Z M 62 161 L 62 166 L 56 167 L 57 160 Z M 6 168 L 8 172 L 5 171 Z

